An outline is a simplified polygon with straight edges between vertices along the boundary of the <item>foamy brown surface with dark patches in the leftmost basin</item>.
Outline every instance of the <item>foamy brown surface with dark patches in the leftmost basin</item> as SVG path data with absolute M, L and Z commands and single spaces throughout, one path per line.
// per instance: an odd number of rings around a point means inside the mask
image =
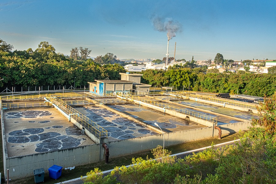
M 3 112 L 8 157 L 95 144 L 54 108 Z

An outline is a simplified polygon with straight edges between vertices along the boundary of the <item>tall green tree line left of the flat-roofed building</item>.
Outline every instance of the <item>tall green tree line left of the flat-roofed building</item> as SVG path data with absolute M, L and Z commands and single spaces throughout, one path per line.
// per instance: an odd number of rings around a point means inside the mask
M 102 65 L 87 59 L 91 51 L 86 48 L 79 48 L 80 55 L 75 48 L 71 58 L 56 53 L 56 49 L 45 41 L 40 42 L 35 51 L 29 48 L 12 52 L 12 49 L 12 45 L 0 39 L 0 78 L 4 79 L 0 87 L 16 86 L 26 90 L 28 86 L 74 85 L 74 81 L 75 86 L 84 86 L 95 79 L 121 79 L 119 73 L 125 72 L 124 67 L 115 62 Z M 103 61 L 116 58 L 113 54 L 107 55 L 98 58 L 103 57 Z

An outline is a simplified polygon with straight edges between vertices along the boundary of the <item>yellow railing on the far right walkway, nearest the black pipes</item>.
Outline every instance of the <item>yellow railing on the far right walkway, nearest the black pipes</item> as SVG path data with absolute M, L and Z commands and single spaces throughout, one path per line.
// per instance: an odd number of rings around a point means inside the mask
M 187 94 L 187 93 L 182 93 L 180 91 L 174 91 L 174 92 L 170 92 L 170 93 L 171 94 L 181 94 L 186 97 L 198 98 L 198 99 L 207 100 L 207 101 L 211 101 L 211 102 L 217 102 L 217 103 L 221 103 L 221 104 L 227 103 L 229 105 L 235 105 L 238 107 L 257 109 L 257 105 L 255 105 L 255 104 L 250 104 L 248 102 L 240 102 L 240 101 L 231 100 L 231 99 L 222 99 L 222 98 L 217 98 L 217 97 L 213 97 L 210 95 L 203 96 L 203 95 L 199 95 L 199 94 Z

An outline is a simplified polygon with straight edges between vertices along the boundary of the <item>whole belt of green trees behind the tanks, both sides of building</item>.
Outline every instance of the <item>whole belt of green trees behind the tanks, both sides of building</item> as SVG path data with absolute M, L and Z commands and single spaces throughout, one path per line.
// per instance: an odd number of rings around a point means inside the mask
M 125 72 L 120 60 L 112 53 L 98 56 L 94 60 L 87 56 L 88 48 L 72 48 L 70 57 L 56 53 L 48 42 L 40 42 L 38 48 L 13 51 L 13 46 L 0 39 L 0 87 L 74 85 L 83 86 L 107 77 L 121 78 Z M 80 50 L 80 53 L 79 53 Z M 222 56 L 222 55 L 221 55 Z M 184 60 L 184 59 L 183 59 Z M 194 58 L 185 64 L 170 66 L 167 71 L 143 71 L 142 83 L 153 87 L 173 86 L 177 90 L 248 94 L 263 97 L 272 95 L 276 89 L 276 67 L 269 74 L 218 73 L 217 69 L 207 71 L 207 67 L 197 67 Z

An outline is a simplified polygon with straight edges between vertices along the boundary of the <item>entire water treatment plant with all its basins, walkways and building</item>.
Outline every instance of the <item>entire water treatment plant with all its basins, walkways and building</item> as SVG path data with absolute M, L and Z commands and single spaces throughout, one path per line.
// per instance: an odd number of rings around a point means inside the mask
M 258 117 L 257 103 L 192 91 L 150 92 L 129 78 L 90 82 L 85 93 L 2 97 L 3 161 L 10 178 L 150 150 L 163 145 L 162 133 L 165 147 L 220 137 L 247 130 Z

